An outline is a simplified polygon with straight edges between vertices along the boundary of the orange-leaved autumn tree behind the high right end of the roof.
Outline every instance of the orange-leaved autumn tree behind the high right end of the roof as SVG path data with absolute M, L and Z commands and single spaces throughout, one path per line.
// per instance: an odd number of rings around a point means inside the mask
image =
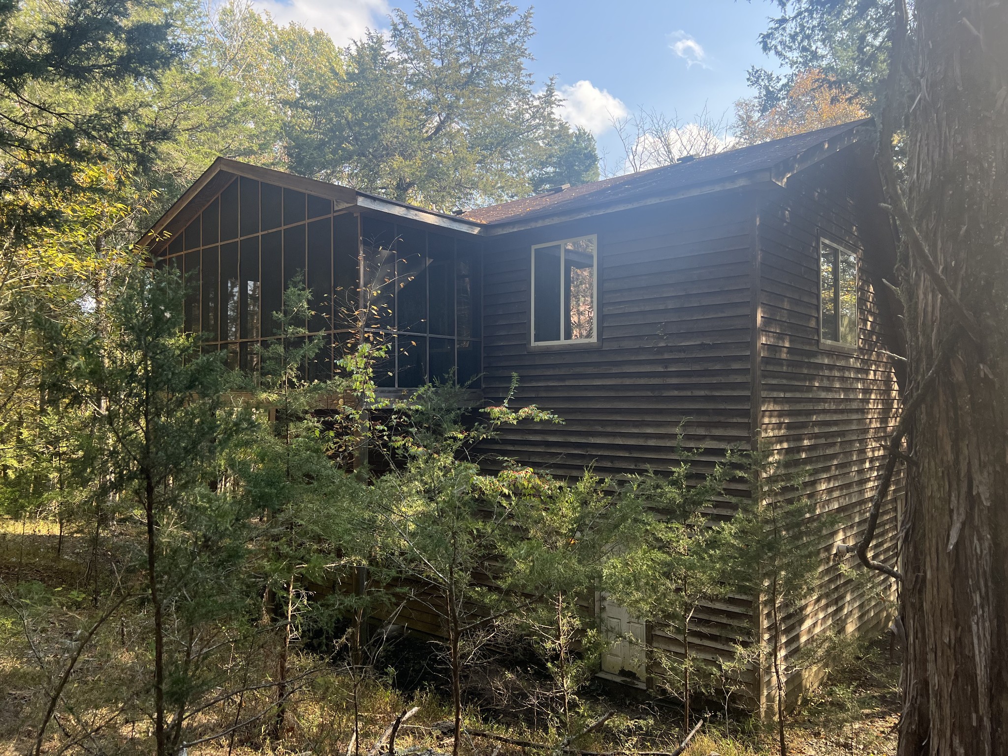
M 771 106 L 764 95 L 735 103 L 735 136 L 740 144 L 780 139 L 805 131 L 867 118 L 864 103 L 821 71 L 793 77 L 790 89 Z

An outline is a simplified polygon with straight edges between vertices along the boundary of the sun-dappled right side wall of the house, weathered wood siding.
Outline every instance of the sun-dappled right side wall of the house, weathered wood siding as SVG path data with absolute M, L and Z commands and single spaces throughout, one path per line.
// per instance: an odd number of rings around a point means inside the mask
M 803 493 L 818 511 L 838 517 L 825 538 L 825 563 L 837 543 L 853 543 L 863 530 L 899 413 L 896 372 L 885 354 L 894 326 L 883 316 L 873 286 L 879 250 L 872 246 L 875 240 L 862 237 L 862 213 L 846 190 L 856 179 L 846 169 L 835 159 L 792 176 L 761 208 L 759 218 L 761 429 L 771 449 L 809 470 Z M 859 344 L 853 353 L 820 345 L 821 234 L 860 259 Z M 874 545 L 876 558 L 889 563 L 895 559 L 896 512 L 903 495 L 898 471 Z M 852 563 L 854 557 L 847 559 Z M 891 582 L 882 585 L 892 588 Z M 822 632 L 877 629 L 889 616 L 884 603 L 836 564 L 824 569 L 818 595 L 818 601 L 787 619 L 787 652 Z M 764 622 L 771 622 L 768 612 Z M 795 675 L 789 689 L 800 683 Z

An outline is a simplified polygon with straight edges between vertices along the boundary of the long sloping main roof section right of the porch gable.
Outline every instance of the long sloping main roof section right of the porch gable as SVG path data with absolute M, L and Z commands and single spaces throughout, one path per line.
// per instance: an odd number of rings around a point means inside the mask
M 700 194 L 705 187 L 717 191 L 726 188 L 726 184 L 751 183 L 754 179 L 783 183 L 791 173 L 859 141 L 868 133 L 870 124 L 871 119 L 864 119 L 831 126 L 707 157 L 680 160 L 650 170 L 478 208 L 464 213 L 462 217 L 484 225 L 506 224 L 641 197 Z

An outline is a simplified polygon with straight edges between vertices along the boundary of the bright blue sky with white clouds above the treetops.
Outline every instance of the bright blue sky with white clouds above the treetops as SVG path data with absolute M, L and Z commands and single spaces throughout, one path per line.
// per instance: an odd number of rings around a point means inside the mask
M 512 0 L 519 8 L 528 3 Z M 321 28 L 343 45 L 413 0 L 254 0 L 281 22 Z M 690 123 L 705 108 L 730 122 L 750 93 L 751 66 L 772 67 L 757 36 L 775 10 L 769 0 L 538 0 L 529 69 L 556 78 L 561 115 L 591 130 L 600 151 L 622 152 L 612 117 L 655 109 Z

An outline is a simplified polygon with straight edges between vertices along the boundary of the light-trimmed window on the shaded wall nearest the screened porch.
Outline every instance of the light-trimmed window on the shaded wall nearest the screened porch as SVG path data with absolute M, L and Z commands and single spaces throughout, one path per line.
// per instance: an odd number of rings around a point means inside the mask
M 532 247 L 532 344 L 598 340 L 595 235 Z

